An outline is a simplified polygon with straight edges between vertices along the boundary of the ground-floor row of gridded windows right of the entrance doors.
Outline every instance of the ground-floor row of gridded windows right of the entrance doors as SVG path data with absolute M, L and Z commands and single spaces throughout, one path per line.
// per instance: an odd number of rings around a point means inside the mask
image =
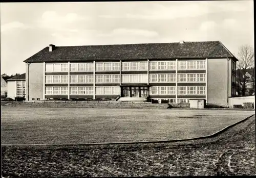
M 150 87 L 150 94 L 157 95 L 172 95 L 176 94 L 176 87 L 174 86 L 155 86 Z M 205 94 L 204 86 L 179 86 L 178 94 Z

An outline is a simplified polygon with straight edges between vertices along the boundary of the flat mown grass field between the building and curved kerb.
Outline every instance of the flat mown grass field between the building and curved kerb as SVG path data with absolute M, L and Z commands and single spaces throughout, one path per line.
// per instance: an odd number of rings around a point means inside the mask
M 254 111 L 2 107 L 2 144 L 185 139 L 213 134 Z

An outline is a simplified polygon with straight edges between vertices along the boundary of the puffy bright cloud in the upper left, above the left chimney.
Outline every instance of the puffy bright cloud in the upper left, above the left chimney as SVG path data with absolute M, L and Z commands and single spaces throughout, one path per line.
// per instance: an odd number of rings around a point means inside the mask
M 88 19 L 88 17 L 79 16 L 76 13 L 59 15 L 55 11 L 46 11 L 39 20 L 39 27 L 55 31 L 77 32 L 78 30 L 73 27 L 78 27 L 80 22 Z

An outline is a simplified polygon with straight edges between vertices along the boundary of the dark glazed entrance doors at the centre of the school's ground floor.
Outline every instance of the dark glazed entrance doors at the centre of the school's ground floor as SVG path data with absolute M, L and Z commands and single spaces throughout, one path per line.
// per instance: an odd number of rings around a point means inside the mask
M 122 87 L 122 97 L 147 97 L 148 87 Z

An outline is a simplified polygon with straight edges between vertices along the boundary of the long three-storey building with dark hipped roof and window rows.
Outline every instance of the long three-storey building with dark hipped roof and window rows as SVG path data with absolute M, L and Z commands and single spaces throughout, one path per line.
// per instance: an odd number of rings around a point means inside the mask
M 220 41 L 89 46 L 50 44 L 26 63 L 26 100 L 192 98 L 227 104 L 238 60 Z

